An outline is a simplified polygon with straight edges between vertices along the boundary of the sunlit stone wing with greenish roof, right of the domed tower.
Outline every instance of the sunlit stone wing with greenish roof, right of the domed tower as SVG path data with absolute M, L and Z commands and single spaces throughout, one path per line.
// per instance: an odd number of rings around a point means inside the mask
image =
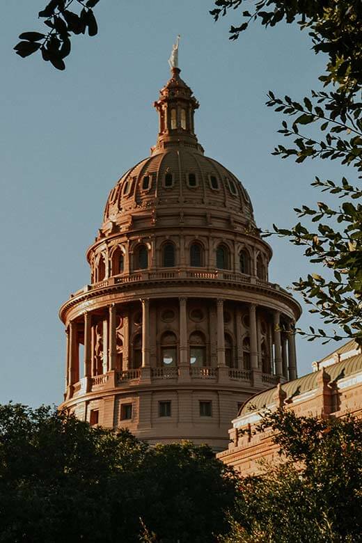
M 246 400 L 232 421 L 228 449 L 217 455 L 242 475 L 260 471 L 260 460 L 281 462 L 273 432 L 255 432 L 262 412 L 291 409 L 298 416 L 362 416 L 362 351 L 354 340 L 313 363 L 313 372 Z

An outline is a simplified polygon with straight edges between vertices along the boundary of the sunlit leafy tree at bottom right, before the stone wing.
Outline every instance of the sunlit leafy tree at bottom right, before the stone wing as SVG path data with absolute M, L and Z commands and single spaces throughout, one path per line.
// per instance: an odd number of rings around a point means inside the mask
M 237 514 L 222 543 L 362 541 L 362 421 L 265 414 L 281 464 L 242 478 Z

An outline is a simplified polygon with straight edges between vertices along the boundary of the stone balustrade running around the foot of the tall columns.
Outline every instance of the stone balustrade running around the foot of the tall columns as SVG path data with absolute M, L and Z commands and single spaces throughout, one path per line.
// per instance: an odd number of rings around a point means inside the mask
M 203 366 L 199 368 L 171 367 L 171 368 L 139 368 L 136 370 L 109 371 L 95 377 L 84 377 L 72 386 L 72 398 L 86 393 L 98 391 L 134 388 L 136 386 L 190 385 L 197 386 L 206 382 L 230 386 L 231 388 L 270 388 L 279 381 L 285 381 L 278 375 L 264 374 L 259 370 L 237 370 L 235 368 L 214 368 Z

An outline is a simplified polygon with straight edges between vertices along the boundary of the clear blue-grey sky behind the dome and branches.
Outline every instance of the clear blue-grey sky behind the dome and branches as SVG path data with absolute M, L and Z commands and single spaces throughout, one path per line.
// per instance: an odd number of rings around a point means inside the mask
M 270 155 L 281 118 L 265 107 L 267 91 L 301 97 L 324 66 L 296 26 L 254 26 L 230 42 L 237 12 L 215 24 L 212 0 L 102 0 L 98 36 L 76 37 L 67 69 L 58 72 L 12 51 L 20 32 L 41 29 L 45 3 L 3 0 L 0 33 L 0 402 L 33 406 L 61 401 L 58 308 L 89 281 L 85 251 L 109 190 L 155 143 L 152 102 L 168 79 L 178 33 L 182 77 L 200 101 L 198 139 L 242 180 L 261 228 L 294 224 L 293 207 L 320 200 L 309 186 L 314 175 L 333 179 L 341 171 Z M 290 285 L 310 271 L 299 249 L 284 239 L 271 243 L 272 281 Z M 301 326 L 311 322 L 304 310 Z M 299 340 L 299 373 L 333 348 Z

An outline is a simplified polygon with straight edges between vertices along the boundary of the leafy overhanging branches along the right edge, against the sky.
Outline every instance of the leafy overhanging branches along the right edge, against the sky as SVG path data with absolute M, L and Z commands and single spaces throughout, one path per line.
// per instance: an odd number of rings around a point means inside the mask
M 230 10 L 241 8 L 245 0 L 217 0 L 210 13 L 217 20 Z M 230 39 L 236 40 L 251 22 L 276 26 L 281 21 L 297 22 L 307 30 L 315 53 L 327 54 L 326 72 L 320 76 L 324 90 L 311 91 L 301 102 L 269 92 L 267 105 L 291 118 L 283 121 L 279 132 L 294 139 L 286 148 L 277 145 L 274 155 L 305 159 L 337 160 L 362 171 L 362 3 L 360 0 L 259 0 L 242 11 L 244 22 L 231 26 Z M 317 136 L 316 134 L 320 134 Z M 361 174 L 355 177 L 361 179 Z M 319 313 L 325 324 L 336 324 L 334 331 L 310 327 L 309 340 L 354 337 L 362 344 L 362 189 L 358 182 L 320 180 L 312 183 L 322 191 L 336 194 L 335 206 L 318 202 L 314 209 L 306 205 L 295 209 L 299 217 L 308 217 L 308 225 L 298 222 L 293 228 L 278 228 L 274 233 L 288 236 L 293 244 L 303 246 L 310 262 L 324 265 L 326 272 L 310 274 L 293 283 L 301 292 L 311 313 Z M 267 234 L 268 235 L 268 234 Z M 269 234 L 270 235 L 270 234 Z

